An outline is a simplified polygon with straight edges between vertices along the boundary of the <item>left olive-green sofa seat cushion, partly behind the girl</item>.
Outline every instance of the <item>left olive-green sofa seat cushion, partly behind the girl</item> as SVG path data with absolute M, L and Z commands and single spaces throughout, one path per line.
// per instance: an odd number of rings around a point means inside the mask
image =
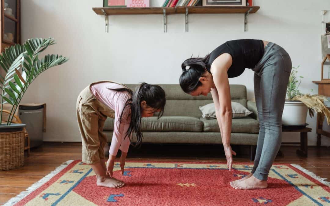
M 162 116 L 142 118 L 142 131 L 162 132 L 202 132 L 203 122 L 195 117 L 187 116 Z M 103 130 L 114 130 L 114 119 L 108 118 Z

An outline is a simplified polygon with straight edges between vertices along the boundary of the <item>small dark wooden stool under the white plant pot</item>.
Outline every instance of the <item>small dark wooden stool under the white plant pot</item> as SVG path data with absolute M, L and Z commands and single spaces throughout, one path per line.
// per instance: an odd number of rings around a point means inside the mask
M 285 126 L 282 127 L 282 132 L 300 132 L 300 142 L 282 142 L 282 145 L 288 144 L 298 144 L 300 145 L 300 149 L 297 150 L 297 154 L 303 157 L 307 157 L 308 155 L 308 146 L 307 146 L 307 132 L 312 132 L 312 129 L 309 127 L 305 127 L 303 129 L 297 129 L 297 127 Z

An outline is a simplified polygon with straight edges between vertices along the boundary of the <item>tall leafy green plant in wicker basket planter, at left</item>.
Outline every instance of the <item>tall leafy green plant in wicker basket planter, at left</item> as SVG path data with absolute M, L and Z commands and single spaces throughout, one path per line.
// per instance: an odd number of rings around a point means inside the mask
M 13 169 L 24 165 L 25 124 L 14 124 L 15 111 L 28 86 L 42 72 L 68 61 L 58 54 L 46 55 L 39 59 L 39 54 L 49 45 L 55 44 L 53 38 L 29 39 L 24 44 L 6 48 L 0 54 L 1 109 L 0 109 L 0 170 Z M 3 105 L 11 105 L 10 111 Z M 3 113 L 8 118 L 3 119 Z

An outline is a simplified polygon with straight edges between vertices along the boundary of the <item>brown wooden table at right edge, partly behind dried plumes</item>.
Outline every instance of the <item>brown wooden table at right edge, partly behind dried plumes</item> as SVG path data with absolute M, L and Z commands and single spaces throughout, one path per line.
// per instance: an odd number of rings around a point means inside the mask
M 318 85 L 318 94 L 324 95 L 326 97 L 330 97 L 330 81 L 322 80 L 322 81 L 313 81 Z M 330 107 L 328 107 L 330 109 Z M 317 133 L 317 147 L 321 146 L 321 134 L 330 137 L 330 132 L 324 131 L 323 128 L 324 114 L 317 113 L 317 123 L 316 123 L 316 133 Z

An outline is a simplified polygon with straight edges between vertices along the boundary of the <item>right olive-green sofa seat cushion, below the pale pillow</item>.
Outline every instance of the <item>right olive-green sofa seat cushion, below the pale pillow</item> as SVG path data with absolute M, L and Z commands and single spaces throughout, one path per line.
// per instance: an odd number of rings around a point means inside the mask
M 204 132 L 220 132 L 216 119 L 200 118 L 204 123 Z M 232 119 L 231 132 L 237 133 L 259 133 L 259 122 L 251 117 Z

